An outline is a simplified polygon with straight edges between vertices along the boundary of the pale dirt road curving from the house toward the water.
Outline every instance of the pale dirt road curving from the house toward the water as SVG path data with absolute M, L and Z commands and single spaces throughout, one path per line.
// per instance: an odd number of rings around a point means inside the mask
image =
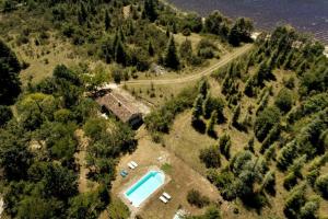
M 149 80 L 131 80 L 131 81 L 126 81 L 126 84 L 174 84 L 174 83 L 186 83 L 186 82 L 190 82 L 190 81 L 195 81 L 195 80 L 199 80 L 202 77 L 209 76 L 210 73 L 212 73 L 214 70 L 216 70 L 220 67 L 225 66 L 226 64 L 229 64 L 230 61 L 232 61 L 233 59 L 246 54 L 247 51 L 250 50 L 250 48 L 253 47 L 253 44 L 246 44 L 239 48 L 236 48 L 233 53 L 227 54 L 223 57 L 221 57 L 221 59 L 210 66 L 209 68 L 200 71 L 200 72 L 196 72 L 192 73 L 190 76 L 186 76 L 183 78 L 176 78 L 176 79 L 149 79 Z

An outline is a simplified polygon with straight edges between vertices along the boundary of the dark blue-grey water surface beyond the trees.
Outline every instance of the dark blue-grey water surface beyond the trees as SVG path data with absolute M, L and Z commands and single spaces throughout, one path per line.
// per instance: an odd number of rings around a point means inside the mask
M 213 10 L 254 20 L 256 27 L 271 30 L 292 24 L 328 43 L 328 0 L 168 0 L 177 8 L 207 15 Z

